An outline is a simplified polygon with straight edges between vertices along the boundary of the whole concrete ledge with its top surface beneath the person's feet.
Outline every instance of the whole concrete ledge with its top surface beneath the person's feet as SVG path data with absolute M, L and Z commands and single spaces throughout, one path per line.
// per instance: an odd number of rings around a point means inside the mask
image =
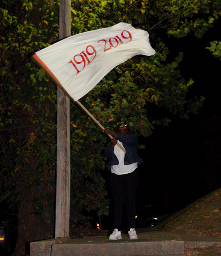
M 221 247 L 219 237 L 186 237 L 168 232 L 142 232 L 131 241 L 109 241 L 108 234 L 84 238 L 53 238 L 30 243 L 31 256 L 185 256 L 185 249 Z

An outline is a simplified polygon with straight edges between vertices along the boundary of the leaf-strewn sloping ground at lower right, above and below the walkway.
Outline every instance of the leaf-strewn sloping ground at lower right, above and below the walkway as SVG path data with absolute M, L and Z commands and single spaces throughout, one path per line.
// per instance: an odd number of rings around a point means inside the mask
M 173 234 L 192 237 L 221 237 L 221 189 L 171 215 L 157 228 Z M 218 256 L 220 247 L 186 248 L 186 256 Z

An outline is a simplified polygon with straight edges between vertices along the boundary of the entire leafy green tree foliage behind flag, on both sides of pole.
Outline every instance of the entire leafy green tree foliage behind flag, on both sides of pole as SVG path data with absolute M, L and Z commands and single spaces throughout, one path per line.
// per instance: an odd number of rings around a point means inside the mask
M 103 126 L 127 121 L 142 136 L 150 136 L 156 125 L 168 125 L 168 112 L 186 119 L 197 114 L 203 97 L 187 99 L 193 81 L 185 81 L 178 70 L 182 53 L 168 62 L 164 39 L 203 36 L 220 8 L 219 0 L 73 1 L 72 34 L 127 22 L 147 30 L 156 49 L 150 58 L 136 56 L 113 69 L 80 101 Z M 0 3 L 0 202 L 18 216 L 15 255 L 24 254 L 25 242 L 53 236 L 56 87 L 29 56 L 58 40 L 58 12 L 58 0 Z M 108 214 L 101 171 L 108 141 L 73 102 L 71 225 L 87 225 L 90 211 Z

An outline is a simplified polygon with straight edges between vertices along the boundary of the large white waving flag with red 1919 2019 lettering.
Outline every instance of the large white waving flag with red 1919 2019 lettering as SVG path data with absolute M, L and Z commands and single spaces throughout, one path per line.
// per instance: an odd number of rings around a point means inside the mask
M 111 69 L 138 54 L 155 54 L 148 33 L 121 22 L 70 36 L 37 51 L 32 57 L 68 96 L 77 101 Z

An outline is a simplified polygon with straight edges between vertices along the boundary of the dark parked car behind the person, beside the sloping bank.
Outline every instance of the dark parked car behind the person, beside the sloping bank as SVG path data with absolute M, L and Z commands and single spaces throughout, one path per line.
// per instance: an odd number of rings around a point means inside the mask
M 165 211 L 160 205 L 146 205 L 137 209 L 136 227 L 147 228 L 156 226 L 172 212 Z

